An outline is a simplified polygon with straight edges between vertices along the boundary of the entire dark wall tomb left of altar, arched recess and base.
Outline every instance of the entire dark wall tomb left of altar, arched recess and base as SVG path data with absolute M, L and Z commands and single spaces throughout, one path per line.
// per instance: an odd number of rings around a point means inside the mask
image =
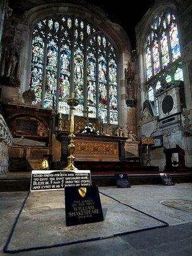
M 1 109 L 14 137 L 9 149 L 9 171 L 40 169 L 43 155 L 52 154 L 54 112 L 5 102 Z

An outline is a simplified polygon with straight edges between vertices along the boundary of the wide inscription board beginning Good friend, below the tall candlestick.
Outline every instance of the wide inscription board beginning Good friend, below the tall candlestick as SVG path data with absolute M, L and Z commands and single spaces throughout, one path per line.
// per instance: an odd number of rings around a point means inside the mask
M 90 171 L 32 171 L 30 191 L 64 190 L 65 186 L 92 185 Z

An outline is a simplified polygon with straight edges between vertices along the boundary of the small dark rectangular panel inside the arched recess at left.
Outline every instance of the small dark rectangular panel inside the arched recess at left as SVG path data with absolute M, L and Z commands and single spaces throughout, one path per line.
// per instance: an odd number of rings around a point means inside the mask
M 29 121 L 29 120 L 21 120 L 18 119 L 16 121 L 16 131 L 20 133 L 30 133 L 31 135 L 37 135 L 38 122 L 37 121 Z

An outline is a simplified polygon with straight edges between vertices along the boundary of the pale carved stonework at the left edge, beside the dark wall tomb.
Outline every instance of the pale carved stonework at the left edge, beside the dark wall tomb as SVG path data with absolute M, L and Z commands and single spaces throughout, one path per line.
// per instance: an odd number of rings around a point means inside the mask
M 11 131 L 0 114 L 0 174 L 8 172 L 9 147 L 12 139 Z

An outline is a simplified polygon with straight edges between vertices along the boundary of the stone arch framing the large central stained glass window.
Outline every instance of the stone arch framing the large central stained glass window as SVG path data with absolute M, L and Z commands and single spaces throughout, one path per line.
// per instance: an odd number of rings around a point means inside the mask
M 124 32 L 123 28 L 116 23 L 112 23 L 107 18 L 107 15 L 103 11 L 95 9 L 88 9 L 80 5 L 75 4 L 42 4 L 36 6 L 24 15 L 23 23 L 23 35 L 25 38 L 25 46 L 23 47 L 23 81 L 21 83 L 21 93 L 28 90 L 28 84 L 30 79 L 30 52 L 32 44 L 32 28 L 35 22 L 50 16 L 54 13 L 57 15 L 68 14 L 77 15 L 90 21 L 93 25 L 97 26 L 104 32 L 109 40 L 114 45 L 118 55 L 118 84 L 119 84 L 119 123 L 123 125 L 127 120 L 127 108 L 125 103 L 125 83 L 124 83 L 124 68 L 128 60 L 131 59 L 131 44 L 129 42 L 128 35 Z M 27 56 L 27 58 L 25 57 Z M 124 121 L 125 120 L 125 121 Z

